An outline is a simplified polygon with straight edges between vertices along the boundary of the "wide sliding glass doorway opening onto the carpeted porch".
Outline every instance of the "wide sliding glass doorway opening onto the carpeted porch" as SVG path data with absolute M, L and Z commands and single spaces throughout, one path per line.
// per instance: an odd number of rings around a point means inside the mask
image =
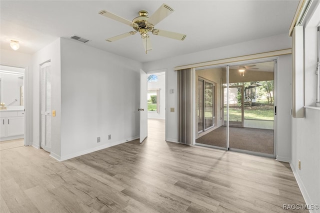
M 196 70 L 195 126 L 201 122 L 201 78 L 216 82 L 216 121 L 207 131 L 198 129 L 195 144 L 275 157 L 274 72 L 275 60 Z

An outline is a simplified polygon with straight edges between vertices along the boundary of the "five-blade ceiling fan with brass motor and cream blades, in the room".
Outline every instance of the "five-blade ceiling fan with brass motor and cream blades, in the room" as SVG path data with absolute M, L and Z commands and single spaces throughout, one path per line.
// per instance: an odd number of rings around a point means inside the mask
M 142 43 L 144 46 L 145 53 L 151 50 L 151 42 L 149 38 L 149 32 L 154 35 L 160 35 L 168 38 L 173 38 L 177 40 L 184 40 L 185 34 L 166 31 L 162 29 L 154 28 L 155 24 L 163 20 L 166 16 L 171 14 L 174 10 L 168 6 L 167 4 L 162 4 L 150 17 L 148 17 L 148 12 L 146 10 L 140 10 L 138 12 L 139 16 L 133 18 L 132 21 L 129 21 L 123 17 L 120 17 L 116 14 L 113 14 L 106 10 L 99 11 L 99 14 L 111 18 L 113 20 L 119 21 L 121 23 L 127 24 L 133 27 L 133 31 L 125 32 L 123 34 L 119 34 L 110 38 L 105 39 L 106 41 L 112 42 L 121 38 L 125 38 L 130 35 L 134 35 L 136 32 L 139 32 L 142 38 Z

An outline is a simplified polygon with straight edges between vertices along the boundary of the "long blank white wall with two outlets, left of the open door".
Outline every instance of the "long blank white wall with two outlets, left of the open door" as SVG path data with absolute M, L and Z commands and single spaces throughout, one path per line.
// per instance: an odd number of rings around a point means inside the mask
M 61 38 L 60 160 L 139 137 L 140 68 L 139 62 Z

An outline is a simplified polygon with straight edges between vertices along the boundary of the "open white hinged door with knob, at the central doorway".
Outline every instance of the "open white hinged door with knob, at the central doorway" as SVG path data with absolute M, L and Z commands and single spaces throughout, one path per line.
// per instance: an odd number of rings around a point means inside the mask
M 143 142 L 145 137 L 148 135 L 147 131 L 147 74 L 140 69 L 140 142 Z

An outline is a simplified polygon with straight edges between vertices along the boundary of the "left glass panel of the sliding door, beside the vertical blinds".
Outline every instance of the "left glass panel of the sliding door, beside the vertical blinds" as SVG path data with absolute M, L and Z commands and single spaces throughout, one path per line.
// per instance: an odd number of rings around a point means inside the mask
M 197 113 L 198 131 L 196 132 L 195 143 L 198 145 L 226 149 L 227 129 L 223 125 L 223 83 L 226 83 L 226 67 L 207 68 L 195 71 L 196 77 L 205 79 L 197 80 L 195 86 L 197 97 L 195 98 Z M 203 86 L 199 86 L 200 83 Z M 200 90 L 203 90 L 202 94 Z M 202 96 L 201 96 L 202 95 Z M 200 104 L 199 99 L 203 102 Z M 201 123 L 200 106 L 203 106 L 203 123 Z M 202 124 L 202 127 L 199 125 Z

